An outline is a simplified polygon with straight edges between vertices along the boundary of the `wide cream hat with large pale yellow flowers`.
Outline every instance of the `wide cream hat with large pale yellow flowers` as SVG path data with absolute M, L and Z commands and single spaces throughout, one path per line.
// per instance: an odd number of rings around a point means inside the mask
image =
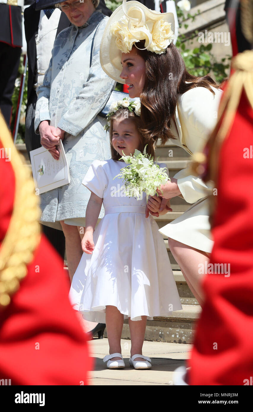
M 103 71 L 119 83 L 122 72 L 121 53 L 129 53 L 133 44 L 145 40 L 145 48 L 162 54 L 175 38 L 173 13 L 150 10 L 138 1 L 123 0 L 110 16 L 100 44 L 100 63 Z

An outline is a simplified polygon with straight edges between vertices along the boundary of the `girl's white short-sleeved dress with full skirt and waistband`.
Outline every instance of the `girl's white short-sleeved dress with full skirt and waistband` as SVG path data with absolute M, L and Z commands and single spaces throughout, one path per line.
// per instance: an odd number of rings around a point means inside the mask
M 87 321 L 105 323 L 106 305 L 132 321 L 182 309 L 158 225 L 151 215 L 145 218 L 146 194 L 138 200 L 117 192 L 123 180 L 113 178 L 126 166 L 112 159 L 95 160 L 82 181 L 103 198 L 105 209 L 93 233 L 93 253 L 83 253 L 69 293 L 73 308 Z

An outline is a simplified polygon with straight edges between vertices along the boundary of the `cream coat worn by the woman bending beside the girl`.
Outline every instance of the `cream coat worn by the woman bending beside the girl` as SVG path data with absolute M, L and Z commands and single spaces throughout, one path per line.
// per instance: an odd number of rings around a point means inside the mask
M 177 146 L 183 147 L 193 155 L 200 152 L 209 134 L 217 122 L 218 106 L 222 91 L 213 88 L 215 96 L 205 87 L 195 87 L 186 91 L 178 98 L 175 122 L 171 121 L 171 131 L 175 139 L 171 140 Z M 193 204 L 183 215 L 159 229 L 165 236 L 175 239 L 193 248 L 211 252 L 210 224 L 208 216 L 208 189 L 200 178 L 193 176 L 190 165 L 176 173 L 178 187 L 182 197 Z

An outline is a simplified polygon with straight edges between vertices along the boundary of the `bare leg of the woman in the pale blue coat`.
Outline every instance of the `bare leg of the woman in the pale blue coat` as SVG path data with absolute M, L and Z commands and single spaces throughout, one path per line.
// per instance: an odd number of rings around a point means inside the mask
M 72 281 L 74 273 L 82 258 L 82 246 L 80 242 L 80 235 L 77 226 L 66 225 L 64 220 L 61 220 L 61 227 L 65 236 L 66 242 L 66 256 L 68 262 L 68 273 L 70 281 Z

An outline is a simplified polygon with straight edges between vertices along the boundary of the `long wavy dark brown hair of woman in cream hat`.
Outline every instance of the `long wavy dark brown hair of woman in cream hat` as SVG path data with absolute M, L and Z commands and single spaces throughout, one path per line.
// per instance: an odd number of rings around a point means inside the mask
M 144 42 L 138 42 L 138 47 L 144 47 Z M 146 78 L 140 96 L 141 120 L 145 126 L 141 132 L 145 138 L 151 138 L 154 142 L 160 138 L 164 144 L 169 138 L 174 138 L 170 120 L 176 110 L 178 95 L 194 87 L 206 87 L 215 95 L 211 86 L 216 89 L 219 86 L 208 75 L 197 77 L 188 73 L 185 62 L 173 43 L 162 54 L 135 49 L 145 60 Z

